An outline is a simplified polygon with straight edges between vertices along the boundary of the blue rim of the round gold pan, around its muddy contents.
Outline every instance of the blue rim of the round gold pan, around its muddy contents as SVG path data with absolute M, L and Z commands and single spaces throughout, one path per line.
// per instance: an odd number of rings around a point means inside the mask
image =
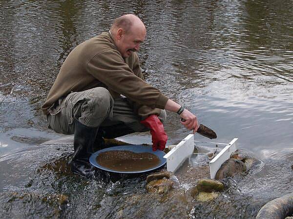
M 139 171 L 117 171 L 117 170 L 113 170 L 113 169 L 110 169 L 110 168 L 107 168 L 105 166 L 102 166 L 102 165 L 98 164 L 96 158 L 99 156 L 99 154 L 102 153 L 102 152 L 111 151 L 111 150 L 124 150 L 124 151 L 131 151 L 131 152 L 134 152 L 134 153 L 144 153 L 144 152 L 152 153 L 152 154 L 156 155 L 159 158 L 159 163 L 156 164 L 155 166 L 152 166 L 152 167 L 147 168 L 147 169 L 142 169 L 142 170 L 139 170 Z M 164 155 L 165 155 L 164 151 L 162 151 L 162 150 L 153 151 L 150 146 L 142 146 L 142 145 L 113 146 L 113 147 L 108 147 L 108 148 L 96 151 L 95 153 L 93 153 L 90 156 L 89 162 L 91 164 L 93 164 L 94 166 L 100 168 L 100 169 L 110 171 L 110 172 L 114 172 L 114 173 L 143 173 L 143 172 L 147 172 L 147 171 L 157 169 L 157 168 L 163 166 L 164 164 L 166 164 L 166 159 L 163 158 Z

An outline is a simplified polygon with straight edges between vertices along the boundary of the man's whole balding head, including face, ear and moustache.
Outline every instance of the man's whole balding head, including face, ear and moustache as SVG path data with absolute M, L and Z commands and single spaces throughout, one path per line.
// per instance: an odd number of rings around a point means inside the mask
M 140 49 L 140 43 L 146 38 L 146 27 L 135 15 L 123 15 L 116 18 L 111 25 L 111 36 L 117 50 L 126 58 Z

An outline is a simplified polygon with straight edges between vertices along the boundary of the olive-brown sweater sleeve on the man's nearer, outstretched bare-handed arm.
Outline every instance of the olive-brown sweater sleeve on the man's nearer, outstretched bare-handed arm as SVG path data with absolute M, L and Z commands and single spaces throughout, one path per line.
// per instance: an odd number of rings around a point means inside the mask
M 165 108 L 168 97 L 136 76 L 118 51 L 106 50 L 95 55 L 86 68 L 109 89 L 123 94 L 131 101 L 151 108 Z

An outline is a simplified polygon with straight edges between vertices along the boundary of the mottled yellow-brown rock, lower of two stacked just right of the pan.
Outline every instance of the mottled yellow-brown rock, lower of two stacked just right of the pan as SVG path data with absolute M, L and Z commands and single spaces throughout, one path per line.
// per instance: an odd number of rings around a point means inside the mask
M 173 185 L 173 181 L 169 179 L 153 180 L 146 184 L 146 191 L 158 194 L 167 193 Z

